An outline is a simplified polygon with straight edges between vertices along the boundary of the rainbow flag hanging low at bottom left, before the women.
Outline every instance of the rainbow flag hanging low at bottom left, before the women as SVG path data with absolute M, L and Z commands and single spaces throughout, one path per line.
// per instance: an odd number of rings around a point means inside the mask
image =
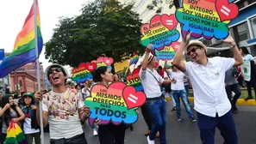
M 21 127 L 17 123 L 15 122 L 9 123 L 9 128 L 7 129 L 7 135 L 4 143 L 5 144 L 27 144 L 25 135 Z

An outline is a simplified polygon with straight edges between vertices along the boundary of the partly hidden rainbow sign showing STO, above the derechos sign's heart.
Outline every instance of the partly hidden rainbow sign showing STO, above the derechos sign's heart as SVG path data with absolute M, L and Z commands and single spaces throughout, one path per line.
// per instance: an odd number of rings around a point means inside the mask
M 136 89 L 136 91 L 143 91 L 144 88 L 140 81 L 140 69 L 134 69 L 132 75 L 126 76 L 126 81 L 128 86 L 132 86 Z

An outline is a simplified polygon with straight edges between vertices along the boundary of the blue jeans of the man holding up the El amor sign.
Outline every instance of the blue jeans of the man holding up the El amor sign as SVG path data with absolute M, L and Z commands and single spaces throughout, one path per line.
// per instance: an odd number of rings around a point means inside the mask
M 153 120 L 153 127 L 150 131 L 149 139 L 154 140 L 159 131 L 160 144 L 166 144 L 166 108 L 165 99 L 147 99 L 147 108 Z

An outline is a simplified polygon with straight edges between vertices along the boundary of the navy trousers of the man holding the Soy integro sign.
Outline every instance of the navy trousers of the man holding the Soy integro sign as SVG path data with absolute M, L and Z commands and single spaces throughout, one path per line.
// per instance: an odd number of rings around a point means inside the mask
M 222 117 L 208 117 L 197 112 L 197 125 L 202 144 L 215 144 L 215 128 L 221 131 L 223 144 L 237 144 L 238 138 L 232 113 L 228 111 Z

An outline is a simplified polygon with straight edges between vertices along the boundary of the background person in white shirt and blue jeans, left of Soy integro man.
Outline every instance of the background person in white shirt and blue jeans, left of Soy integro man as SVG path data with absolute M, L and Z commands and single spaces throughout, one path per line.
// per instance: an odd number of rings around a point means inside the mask
M 192 123 L 197 122 L 190 109 L 187 93 L 184 88 L 184 76 L 186 75 L 184 75 L 184 73 L 179 71 L 175 66 L 172 66 L 172 71 L 170 70 L 168 71 L 168 73 L 169 75 L 171 75 L 171 78 L 176 81 L 176 83 L 172 83 L 171 89 L 172 89 L 172 97 L 176 103 L 177 120 L 181 121 L 180 100 L 179 100 L 179 98 L 181 98 L 183 105 L 185 107 L 185 110 L 187 111 L 187 114 L 190 117 L 190 122 Z

